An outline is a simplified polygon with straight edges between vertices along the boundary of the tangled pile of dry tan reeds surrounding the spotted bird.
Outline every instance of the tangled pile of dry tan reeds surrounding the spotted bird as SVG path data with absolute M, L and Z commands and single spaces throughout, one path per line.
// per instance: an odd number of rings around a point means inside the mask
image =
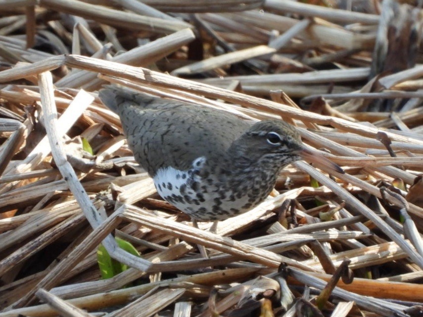
M 419 5 L 0 0 L 0 317 L 421 316 Z M 282 118 L 346 173 L 297 162 L 259 207 L 193 228 L 105 83 Z M 102 279 L 100 243 L 131 268 Z

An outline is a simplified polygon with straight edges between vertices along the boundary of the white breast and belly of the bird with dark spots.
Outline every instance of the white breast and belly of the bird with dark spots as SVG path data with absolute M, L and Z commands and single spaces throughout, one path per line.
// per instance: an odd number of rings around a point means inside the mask
M 212 172 L 204 165 L 198 158 L 187 171 L 161 168 L 153 178 L 164 200 L 200 221 L 225 220 L 254 208 L 266 199 L 276 181 L 276 176 L 266 173 L 238 175 L 237 179 L 232 173 L 222 178 L 215 174 L 218 169 Z

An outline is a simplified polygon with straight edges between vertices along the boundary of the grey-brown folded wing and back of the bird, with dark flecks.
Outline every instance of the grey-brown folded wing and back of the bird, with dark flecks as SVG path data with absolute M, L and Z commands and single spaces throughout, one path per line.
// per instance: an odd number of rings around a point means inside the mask
M 102 91 L 102 101 L 119 114 L 135 159 L 151 176 L 167 166 L 188 170 L 201 156 L 222 159 L 232 142 L 250 126 L 230 113 L 204 106 L 142 93 L 134 96 L 121 90 Z

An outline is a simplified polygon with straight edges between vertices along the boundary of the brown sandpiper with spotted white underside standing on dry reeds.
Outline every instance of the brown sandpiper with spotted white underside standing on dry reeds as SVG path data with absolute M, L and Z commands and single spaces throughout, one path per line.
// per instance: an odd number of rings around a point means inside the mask
M 119 115 L 134 158 L 158 194 L 195 224 L 251 210 L 271 193 L 282 168 L 297 160 L 343 173 L 306 148 L 296 128 L 282 120 L 253 124 L 116 85 L 103 86 L 98 95 Z

